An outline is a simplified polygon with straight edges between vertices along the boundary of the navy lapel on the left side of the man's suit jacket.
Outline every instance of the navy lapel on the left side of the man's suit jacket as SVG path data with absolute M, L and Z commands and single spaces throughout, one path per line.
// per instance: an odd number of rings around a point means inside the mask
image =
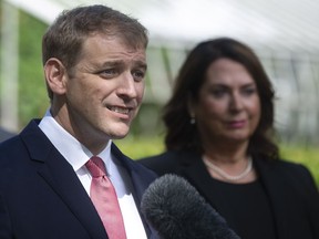
M 21 133 L 34 166 L 92 238 L 107 238 L 102 221 L 72 166 L 55 149 L 35 122 Z

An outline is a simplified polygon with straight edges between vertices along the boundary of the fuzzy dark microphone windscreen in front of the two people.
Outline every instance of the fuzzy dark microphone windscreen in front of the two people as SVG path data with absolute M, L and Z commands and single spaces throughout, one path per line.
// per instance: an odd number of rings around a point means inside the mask
M 141 210 L 163 239 L 240 239 L 183 177 L 167 174 L 145 190 Z

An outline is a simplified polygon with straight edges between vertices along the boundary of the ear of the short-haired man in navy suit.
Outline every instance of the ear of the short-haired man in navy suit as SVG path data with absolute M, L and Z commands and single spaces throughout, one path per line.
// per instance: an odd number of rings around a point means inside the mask
M 60 60 L 49 59 L 44 65 L 44 75 L 48 86 L 54 94 L 62 95 L 65 93 L 68 72 Z

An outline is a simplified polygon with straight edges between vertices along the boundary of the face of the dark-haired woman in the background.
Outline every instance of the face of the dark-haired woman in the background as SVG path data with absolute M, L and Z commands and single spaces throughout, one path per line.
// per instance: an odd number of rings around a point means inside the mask
M 219 59 L 207 69 L 191 114 L 204 143 L 247 143 L 260 119 L 257 85 L 244 65 Z

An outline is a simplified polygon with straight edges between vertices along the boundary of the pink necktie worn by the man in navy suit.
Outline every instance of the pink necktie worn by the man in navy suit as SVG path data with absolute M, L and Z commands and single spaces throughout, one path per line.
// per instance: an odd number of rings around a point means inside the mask
M 92 175 L 90 196 L 110 239 L 125 239 L 125 228 L 115 189 L 106 176 L 100 157 L 93 156 L 86 164 Z

